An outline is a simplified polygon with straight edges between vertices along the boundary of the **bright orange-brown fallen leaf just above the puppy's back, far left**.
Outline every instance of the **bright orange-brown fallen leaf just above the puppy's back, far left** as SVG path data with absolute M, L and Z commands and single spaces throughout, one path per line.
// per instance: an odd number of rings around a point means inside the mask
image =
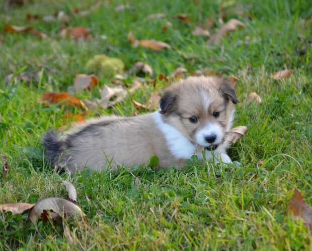
M 84 103 L 80 99 L 70 95 L 67 92 L 44 93 L 42 97 L 42 101 L 45 102 L 46 104 L 57 104 L 57 103 L 63 102 L 69 106 L 77 106 L 80 108 L 85 108 Z

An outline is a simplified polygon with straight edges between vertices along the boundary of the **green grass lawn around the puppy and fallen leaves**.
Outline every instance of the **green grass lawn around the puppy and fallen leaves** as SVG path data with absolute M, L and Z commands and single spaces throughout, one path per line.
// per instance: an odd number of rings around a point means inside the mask
M 312 39 L 311 22 L 303 22 L 312 15 L 310 1 L 212 4 L 199 0 L 195 5 L 193 1 L 140 0 L 128 1 L 135 11 L 121 13 L 114 8 L 122 1 L 104 1 L 89 17 L 70 22 L 72 27 L 90 28 L 93 38 L 89 41 L 60 38 L 60 22 L 27 23 L 25 19 L 27 13 L 42 17 L 59 10 L 70 15 L 73 7 L 84 10 L 95 2 L 34 0 L 23 7 L 0 6 L 0 27 L 7 23 L 30 25 L 49 36 L 40 40 L 3 33 L 0 40 L 0 151 L 10 164 L 8 174 L 0 173 L 0 204 L 64 197 L 66 191 L 59 181 L 69 180 L 87 215 L 86 225 L 69 220 L 74 241 L 68 243 L 61 223 L 40 222 L 36 230 L 27 222 L 27 215 L 0 213 L 0 249 L 311 249 L 311 230 L 286 213 L 294 186 L 312 204 L 312 48 L 301 56 L 294 52 L 298 36 Z M 221 7 L 232 2 L 248 4 L 251 19 L 228 12 L 224 21 L 238 18 L 247 25 L 244 30 L 209 48 L 205 39 L 192 36 L 192 29 L 207 17 L 216 23 L 213 32 L 219 26 Z M 162 20 L 144 19 L 160 12 L 173 24 L 166 32 L 162 32 Z M 189 14 L 192 24 L 175 18 L 180 13 Z M 164 41 L 172 49 L 133 48 L 127 41 L 129 31 L 138 39 Z M 255 41 L 238 43 L 247 36 Z M 167 75 L 181 65 L 189 72 L 208 67 L 237 76 L 241 102 L 235 126 L 245 125 L 249 131 L 228 152 L 241 166 L 200 166 L 193 161 L 183 170 L 141 167 L 131 172 L 53 173 L 44 159 L 41 137 L 49 128 L 70 122 L 64 119 L 68 108 L 47 107 L 38 100 L 44 92 L 68 91 L 75 75 L 85 72 L 88 59 L 101 53 L 120 58 L 128 68 L 144 61 L 155 76 Z M 8 74 L 25 66 L 26 71 L 38 71 L 43 65 L 53 67 L 55 73 L 45 71 L 39 84 L 5 84 Z M 272 74 L 286 67 L 294 70 L 291 78 L 275 81 Z M 109 79 L 100 79 L 101 86 L 107 83 Z M 143 103 L 154 88 L 161 90 L 169 84 L 144 84 L 122 103 L 100 112 L 132 115 L 131 99 Z M 75 95 L 98 97 L 99 89 Z M 261 96 L 261 105 L 244 102 L 252 91 Z M 95 114 L 88 113 L 92 116 Z M 257 166 L 261 160 L 264 164 Z M 140 180 L 138 186 L 134 176 Z

